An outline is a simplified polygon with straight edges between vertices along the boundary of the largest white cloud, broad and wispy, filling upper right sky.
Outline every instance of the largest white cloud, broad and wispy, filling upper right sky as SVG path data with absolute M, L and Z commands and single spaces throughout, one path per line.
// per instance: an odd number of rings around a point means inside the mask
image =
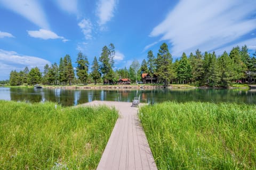
M 256 29 L 256 1 L 182 0 L 150 36 L 172 44 L 172 54 L 211 51 Z

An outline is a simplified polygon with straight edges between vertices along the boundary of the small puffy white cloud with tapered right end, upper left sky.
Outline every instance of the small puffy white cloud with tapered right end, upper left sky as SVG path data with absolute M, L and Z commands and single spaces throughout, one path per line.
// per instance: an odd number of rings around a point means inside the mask
M 68 39 L 58 36 L 50 30 L 39 29 L 38 31 L 28 31 L 29 36 L 41 39 L 62 39 L 63 42 L 67 42 Z

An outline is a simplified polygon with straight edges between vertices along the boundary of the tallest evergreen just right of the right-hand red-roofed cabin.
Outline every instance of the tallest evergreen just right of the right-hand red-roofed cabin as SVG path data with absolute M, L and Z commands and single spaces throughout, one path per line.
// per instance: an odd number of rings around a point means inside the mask
M 158 78 L 164 82 L 164 85 L 167 85 L 173 76 L 172 55 L 170 54 L 166 43 L 163 43 L 160 46 L 160 49 L 157 53 L 156 72 Z

